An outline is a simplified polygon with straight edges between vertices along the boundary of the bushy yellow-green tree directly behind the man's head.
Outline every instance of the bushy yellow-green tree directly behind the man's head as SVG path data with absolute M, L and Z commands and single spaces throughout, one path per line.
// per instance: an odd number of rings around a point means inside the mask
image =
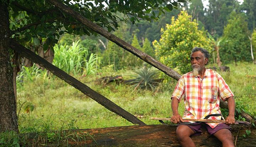
M 178 68 L 181 73 L 189 72 L 189 58 L 193 47 L 203 47 L 208 51 L 212 49 L 210 40 L 198 30 L 197 25 L 185 11 L 176 20 L 172 17 L 172 23 L 166 24 L 165 30 L 162 29 L 161 39 L 153 42 L 160 62 L 171 68 Z

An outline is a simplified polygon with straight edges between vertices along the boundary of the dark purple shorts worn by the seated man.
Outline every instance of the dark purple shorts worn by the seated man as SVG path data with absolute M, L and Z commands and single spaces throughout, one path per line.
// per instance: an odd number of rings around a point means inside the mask
M 207 125 L 205 123 L 199 123 L 199 122 L 193 123 L 193 124 L 192 123 L 191 124 L 182 124 L 182 123 L 178 124 L 178 126 L 180 126 L 180 125 L 186 125 L 186 126 L 190 127 L 190 129 L 192 129 L 195 132 L 195 134 L 193 134 L 193 135 L 200 135 L 202 133 L 202 131 L 200 130 L 202 125 L 206 127 L 206 129 L 210 135 L 213 135 L 214 133 L 216 133 L 217 131 L 219 131 L 221 129 L 229 129 L 230 130 L 229 126 L 224 123 L 218 124 L 213 129 L 209 125 Z

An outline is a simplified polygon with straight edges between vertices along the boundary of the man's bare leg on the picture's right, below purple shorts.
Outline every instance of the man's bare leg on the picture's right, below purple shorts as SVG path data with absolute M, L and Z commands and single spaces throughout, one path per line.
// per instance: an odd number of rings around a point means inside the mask
M 233 136 L 229 129 L 221 129 L 213 135 L 222 142 L 223 147 L 234 147 Z

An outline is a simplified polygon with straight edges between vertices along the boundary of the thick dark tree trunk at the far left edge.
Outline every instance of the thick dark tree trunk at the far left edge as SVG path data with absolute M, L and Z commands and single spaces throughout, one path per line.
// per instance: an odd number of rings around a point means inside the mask
M 10 28 L 7 5 L 9 1 L 1 1 L 0 5 L 0 132 L 18 131 L 16 102 L 13 87 L 13 69 L 10 62 Z

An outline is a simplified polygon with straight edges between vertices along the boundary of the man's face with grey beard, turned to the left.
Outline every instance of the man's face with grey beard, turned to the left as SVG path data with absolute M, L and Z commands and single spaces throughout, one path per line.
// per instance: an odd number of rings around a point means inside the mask
M 193 69 L 202 71 L 205 64 L 208 62 L 208 58 L 204 57 L 204 54 L 201 51 L 193 52 L 190 57 L 190 63 Z

